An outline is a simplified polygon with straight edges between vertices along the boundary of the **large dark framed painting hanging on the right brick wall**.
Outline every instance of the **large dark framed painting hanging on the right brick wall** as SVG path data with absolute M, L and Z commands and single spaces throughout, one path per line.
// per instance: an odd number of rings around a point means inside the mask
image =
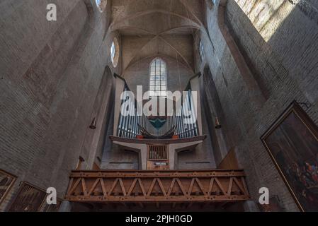
M 302 211 L 318 211 L 318 128 L 293 102 L 261 137 Z

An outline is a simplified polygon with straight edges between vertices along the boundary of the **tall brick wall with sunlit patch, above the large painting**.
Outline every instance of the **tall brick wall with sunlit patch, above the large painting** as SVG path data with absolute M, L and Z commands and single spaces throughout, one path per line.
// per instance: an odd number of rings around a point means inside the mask
M 318 122 L 318 24 L 314 19 L 317 3 L 288 4 L 290 1 L 229 0 L 227 3 L 226 25 L 266 97 L 260 108 L 250 99 L 242 74 L 219 30 L 216 6 L 207 10 L 212 43 L 208 35 L 202 35 L 207 56 L 198 69 L 202 70 L 205 64 L 210 67 L 224 110 L 226 140 L 229 146 L 238 147 L 239 165 L 246 170 L 252 197 L 258 199 L 259 188 L 266 186 L 271 196 L 279 196 L 286 210 L 298 210 L 260 140 L 293 100 L 307 102 L 311 107 L 305 110 Z M 263 7 L 262 13 L 254 12 L 258 7 Z M 271 7 L 279 13 L 273 13 Z M 269 28 L 274 29 L 270 35 L 269 30 L 262 30 Z

